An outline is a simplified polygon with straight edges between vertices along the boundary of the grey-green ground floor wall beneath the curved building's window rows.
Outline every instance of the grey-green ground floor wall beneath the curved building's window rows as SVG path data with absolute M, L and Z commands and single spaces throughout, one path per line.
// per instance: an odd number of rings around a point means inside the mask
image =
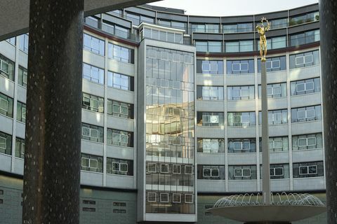
M 313 194 L 326 202 L 325 193 Z M 124 190 L 81 188 L 81 224 L 134 224 L 136 223 L 137 193 Z M 238 222 L 213 216 L 206 209 L 223 195 L 198 195 L 198 224 L 238 224 Z M 22 179 L 0 175 L 0 222 L 21 224 Z M 160 218 L 160 215 L 159 215 Z M 326 213 L 293 224 L 326 224 Z

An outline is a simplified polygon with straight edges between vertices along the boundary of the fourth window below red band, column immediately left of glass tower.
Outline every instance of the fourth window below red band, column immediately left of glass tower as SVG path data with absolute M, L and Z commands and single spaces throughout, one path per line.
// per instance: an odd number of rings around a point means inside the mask
M 107 129 L 107 144 L 133 147 L 133 132 Z

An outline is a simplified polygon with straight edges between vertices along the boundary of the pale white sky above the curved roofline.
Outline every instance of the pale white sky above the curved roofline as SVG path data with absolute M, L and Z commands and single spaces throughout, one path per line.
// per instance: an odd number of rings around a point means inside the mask
M 296 8 L 318 0 L 164 0 L 154 6 L 179 8 L 188 15 L 251 15 Z

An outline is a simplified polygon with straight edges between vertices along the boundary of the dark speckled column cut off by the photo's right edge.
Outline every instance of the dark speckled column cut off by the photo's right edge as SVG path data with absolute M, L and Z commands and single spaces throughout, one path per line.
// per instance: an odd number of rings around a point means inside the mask
M 337 223 L 337 1 L 320 0 L 322 93 L 328 223 Z

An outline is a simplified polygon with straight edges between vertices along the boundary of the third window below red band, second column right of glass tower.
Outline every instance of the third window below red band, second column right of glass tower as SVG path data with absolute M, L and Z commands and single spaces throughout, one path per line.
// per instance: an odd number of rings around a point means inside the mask
M 253 126 L 255 125 L 255 112 L 228 112 L 228 126 Z

